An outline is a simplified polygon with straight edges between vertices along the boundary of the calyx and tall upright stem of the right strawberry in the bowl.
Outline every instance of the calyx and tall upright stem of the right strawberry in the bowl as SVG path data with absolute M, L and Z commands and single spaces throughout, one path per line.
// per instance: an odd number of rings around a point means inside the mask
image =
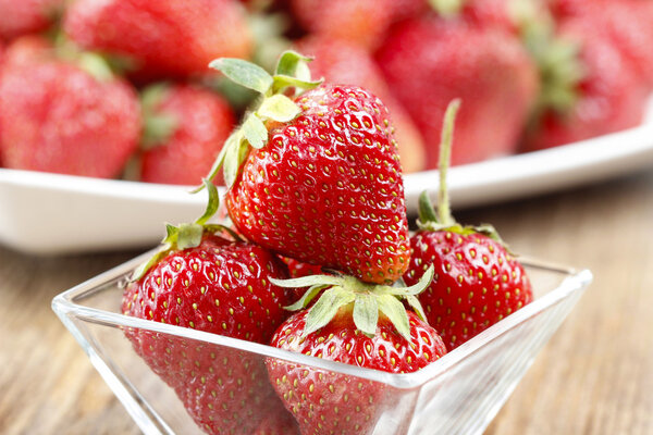
M 421 231 L 440 232 L 447 231 L 460 235 L 482 234 L 491 239 L 500 243 L 504 247 L 507 246 L 501 239 L 498 233 L 490 224 L 478 226 L 463 226 L 456 222 L 451 212 L 448 189 L 446 187 L 446 174 L 451 164 L 452 145 L 454 140 L 454 125 L 456 114 L 460 109 L 460 100 L 456 99 L 449 102 L 444 113 L 442 125 L 442 137 L 440 141 L 440 161 L 438 170 L 440 173 L 440 188 L 438 190 L 438 209 L 433 208 L 429 194 L 424 190 L 419 196 L 418 201 L 418 221 L 417 226 Z

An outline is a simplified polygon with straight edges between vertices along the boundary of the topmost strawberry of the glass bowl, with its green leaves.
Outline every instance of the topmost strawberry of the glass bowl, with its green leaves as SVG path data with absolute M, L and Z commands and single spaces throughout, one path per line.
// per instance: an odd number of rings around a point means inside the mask
M 286 52 L 278 70 L 288 70 L 288 62 L 296 69 L 303 59 Z M 408 262 L 408 225 L 381 100 L 356 86 L 311 83 L 313 89 L 293 101 L 274 89 L 309 82 L 280 71 L 273 78 L 241 60 L 214 66 L 267 96 L 215 165 L 224 165 L 226 207 L 237 231 L 284 257 L 371 283 L 396 281 Z

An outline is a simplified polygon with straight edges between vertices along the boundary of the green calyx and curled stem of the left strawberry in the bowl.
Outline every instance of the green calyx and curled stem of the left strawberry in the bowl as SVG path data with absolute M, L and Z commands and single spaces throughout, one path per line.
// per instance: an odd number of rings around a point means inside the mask
M 209 224 L 208 221 L 215 214 L 220 206 L 220 197 L 218 195 L 218 188 L 213 183 L 208 179 L 204 181 L 204 186 L 209 194 L 209 200 L 207 208 L 201 216 L 199 216 L 193 223 L 184 223 L 178 226 L 165 225 L 165 237 L 161 240 L 161 245 L 157 249 L 156 253 L 150 257 L 146 262 L 140 264 L 132 274 L 131 281 L 140 279 L 155 264 L 157 264 L 163 257 L 168 256 L 172 251 L 183 250 L 188 248 L 195 248 L 201 244 L 202 236 L 205 233 L 217 234 L 219 232 L 229 233 L 235 240 L 241 238 L 230 228 L 219 225 Z

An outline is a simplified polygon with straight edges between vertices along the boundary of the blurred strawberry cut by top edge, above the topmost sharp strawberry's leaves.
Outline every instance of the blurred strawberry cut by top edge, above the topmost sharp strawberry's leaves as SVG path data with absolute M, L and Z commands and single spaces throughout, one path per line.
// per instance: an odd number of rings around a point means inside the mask
M 297 21 L 311 34 L 374 49 L 393 20 L 393 0 L 291 0 Z

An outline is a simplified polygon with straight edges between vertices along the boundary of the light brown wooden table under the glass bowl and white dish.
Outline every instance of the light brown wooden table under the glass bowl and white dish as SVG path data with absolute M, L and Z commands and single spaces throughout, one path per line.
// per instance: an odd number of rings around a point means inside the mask
M 653 171 L 457 216 L 595 275 L 488 434 L 653 434 Z M 136 253 L 0 247 L 0 433 L 138 433 L 50 309 L 61 290 Z

